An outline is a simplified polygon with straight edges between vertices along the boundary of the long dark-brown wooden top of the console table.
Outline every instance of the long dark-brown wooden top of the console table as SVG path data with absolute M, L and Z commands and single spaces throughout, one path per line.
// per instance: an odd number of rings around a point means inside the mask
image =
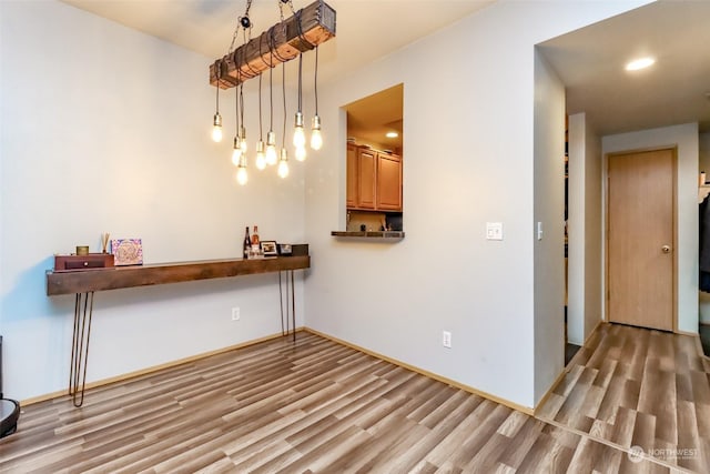
M 308 268 L 311 268 L 311 258 L 297 255 L 255 260 L 203 260 L 81 271 L 50 270 L 47 272 L 47 295 L 119 290 Z

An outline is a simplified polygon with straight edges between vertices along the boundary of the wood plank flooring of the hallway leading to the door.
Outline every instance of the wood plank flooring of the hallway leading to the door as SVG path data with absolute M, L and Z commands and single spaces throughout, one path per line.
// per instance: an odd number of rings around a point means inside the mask
M 710 472 L 710 373 L 691 336 L 602 324 L 537 416 Z

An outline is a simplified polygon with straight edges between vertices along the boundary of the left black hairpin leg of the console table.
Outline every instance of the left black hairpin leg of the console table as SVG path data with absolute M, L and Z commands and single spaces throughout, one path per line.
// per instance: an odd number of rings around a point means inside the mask
M 89 361 L 89 339 L 91 336 L 91 315 L 93 313 L 93 291 L 77 293 L 74 301 L 74 334 L 71 345 L 71 365 L 69 371 L 69 395 L 74 406 L 84 403 L 87 385 L 87 362 Z M 79 385 L 81 384 L 81 389 Z

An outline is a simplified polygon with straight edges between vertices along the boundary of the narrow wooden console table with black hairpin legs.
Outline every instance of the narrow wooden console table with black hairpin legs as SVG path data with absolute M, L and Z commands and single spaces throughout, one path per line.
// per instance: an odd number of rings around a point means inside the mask
M 281 296 L 282 333 L 288 330 L 288 294 L 291 291 L 291 315 L 293 336 L 296 336 L 296 304 L 294 291 L 294 270 L 311 268 L 311 256 L 277 256 L 255 260 L 204 260 L 140 266 L 115 266 L 110 269 L 81 271 L 48 271 L 47 295 L 74 294 L 74 330 L 69 374 L 69 395 L 74 406 L 81 406 L 84 400 L 87 382 L 87 362 L 91 336 L 91 316 L 93 313 L 93 293 L 97 291 L 119 290 L 134 286 L 149 286 L 196 280 L 223 279 L 278 272 L 278 292 Z M 286 272 L 286 330 L 284 331 L 284 297 L 282 272 Z M 288 279 L 291 276 L 291 281 Z

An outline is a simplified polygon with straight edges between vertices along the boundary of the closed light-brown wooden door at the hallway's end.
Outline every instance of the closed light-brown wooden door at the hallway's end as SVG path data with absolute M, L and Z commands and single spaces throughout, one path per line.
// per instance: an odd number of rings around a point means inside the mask
M 611 322 L 673 330 L 674 150 L 609 155 L 607 311 Z

